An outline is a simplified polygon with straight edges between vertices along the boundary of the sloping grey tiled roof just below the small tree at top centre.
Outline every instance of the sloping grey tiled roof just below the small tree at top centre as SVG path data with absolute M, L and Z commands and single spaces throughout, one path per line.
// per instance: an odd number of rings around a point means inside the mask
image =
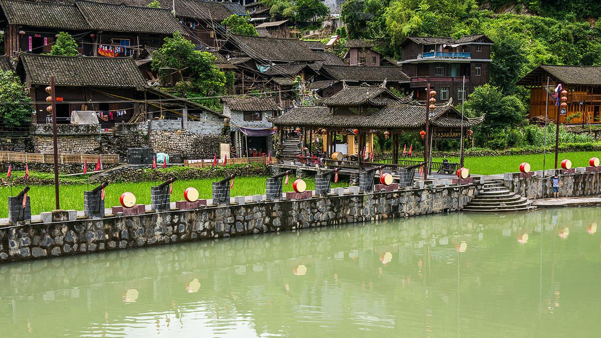
M 231 35 L 230 40 L 246 55 L 258 60 L 291 62 L 323 60 L 320 54 L 311 51 L 307 45 L 296 38 Z

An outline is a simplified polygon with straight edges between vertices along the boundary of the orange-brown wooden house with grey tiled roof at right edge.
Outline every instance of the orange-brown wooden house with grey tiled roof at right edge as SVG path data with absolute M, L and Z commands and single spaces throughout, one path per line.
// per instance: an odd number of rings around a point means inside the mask
M 543 64 L 524 76 L 517 85 L 530 89 L 530 117 L 548 117 L 556 120 L 554 100 L 545 91 L 549 79 L 549 91 L 557 84 L 567 90 L 566 115 L 560 114 L 561 123 L 601 123 L 601 67 L 551 66 Z M 557 120 L 556 120 L 557 121 Z

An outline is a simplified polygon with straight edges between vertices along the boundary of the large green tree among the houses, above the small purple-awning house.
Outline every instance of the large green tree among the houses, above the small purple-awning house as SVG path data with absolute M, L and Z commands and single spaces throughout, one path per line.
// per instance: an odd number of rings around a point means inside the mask
M 216 58 L 201 52 L 180 32 L 166 37 L 163 46 L 153 52 L 151 67 L 161 79 L 175 75 L 175 88 L 182 97 L 216 108 L 223 93 L 225 74 L 215 66 Z

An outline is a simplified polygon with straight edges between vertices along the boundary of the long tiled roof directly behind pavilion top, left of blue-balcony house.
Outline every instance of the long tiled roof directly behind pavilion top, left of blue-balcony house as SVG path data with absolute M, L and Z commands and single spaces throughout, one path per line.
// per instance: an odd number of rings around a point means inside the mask
M 401 67 L 356 67 L 324 65 L 322 72 L 334 79 L 346 81 L 409 82 Z

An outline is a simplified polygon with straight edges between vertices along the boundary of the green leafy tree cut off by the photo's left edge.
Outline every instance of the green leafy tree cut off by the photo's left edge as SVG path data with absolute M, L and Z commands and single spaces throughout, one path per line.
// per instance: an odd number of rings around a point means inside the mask
M 31 97 L 11 70 L 0 70 L 0 102 L 0 126 L 19 128 L 31 123 Z

